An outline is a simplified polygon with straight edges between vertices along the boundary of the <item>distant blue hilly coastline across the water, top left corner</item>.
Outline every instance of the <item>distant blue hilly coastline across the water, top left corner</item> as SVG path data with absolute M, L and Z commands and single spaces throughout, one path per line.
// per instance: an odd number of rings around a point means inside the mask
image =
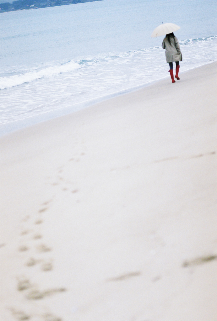
M 0 13 L 16 10 L 26 9 L 39 9 L 55 7 L 66 4 L 78 4 L 92 1 L 103 1 L 103 0 L 17 0 L 12 3 L 5 2 L 0 4 Z

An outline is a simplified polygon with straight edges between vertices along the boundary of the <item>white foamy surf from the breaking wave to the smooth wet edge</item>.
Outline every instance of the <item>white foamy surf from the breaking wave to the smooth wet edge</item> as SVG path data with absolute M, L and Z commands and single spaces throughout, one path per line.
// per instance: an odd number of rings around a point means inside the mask
M 217 60 L 217 36 L 180 40 L 180 72 Z M 65 64 L 34 66 L 0 78 L 0 123 L 40 115 L 59 108 L 76 111 L 103 99 L 168 76 L 165 50 L 151 47 L 86 57 Z M 14 72 L 14 71 L 13 71 Z

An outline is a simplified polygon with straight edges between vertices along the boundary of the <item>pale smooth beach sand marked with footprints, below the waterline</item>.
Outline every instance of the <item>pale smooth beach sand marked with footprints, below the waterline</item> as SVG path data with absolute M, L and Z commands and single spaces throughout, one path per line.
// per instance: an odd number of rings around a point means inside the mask
M 0 320 L 216 320 L 216 68 L 0 138 Z

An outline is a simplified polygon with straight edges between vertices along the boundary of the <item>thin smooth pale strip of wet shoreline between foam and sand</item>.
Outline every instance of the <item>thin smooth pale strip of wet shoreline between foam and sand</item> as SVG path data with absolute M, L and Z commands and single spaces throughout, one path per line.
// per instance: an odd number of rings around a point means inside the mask
M 209 64 L 212 64 L 212 63 L 215 63 L 215 62 L 216 61 L 208 62 L 208 63 L 205 63 L 203 65 L 200 65 L 200 66 L 193 67 L 193 68 L 190 68 L 188 70 L 185 70 L 183 72 L 181 71 L 179 74 L 187 73 L 190 70 L 194 70 L 196 68 L 200 68 L 200 67 L 202 67 L 204 65 L 209 65 Z M 163 78 L 160 78 L 160 79 L 157 79 L 157 80 L 154 80 L 154 81 L 150 81 L 150 82 L 148 82 L 148 83 L 146 83 L 144 85 L 139 85 L 139 86 L 136 86 L 136 87 L 128 88 L 126 90 L 118 91 L 118 92 L 112 93 L 110 95 L 105 95 L 105 96 L 102 96 L 102 97 L 97 97 L 95 99 L 84 101 L 84 102 L 75 104 L 72 107 L 58 108 L 58 109 L 54 109 L 54 110 L 51 110 L 51 111 L 48 111 L 48 112 L 45 112 L 45 113 L 41 113 L 41 114 L 38 114 L 38 115 L 35 115 L 35 116 L 31 116 L 31 117 L 27 117 L 27 118 L 24 118 L 24 119 L 19 119 L 19 120 L 15 120 L 15 121 L 12 121 L 12 122 L 5 123 L 5 124 L 1 124 L 0 125 L 0 137 L 3 137 L 3 136 L 5 136 L 5 135 L 7 135 L 9 133 L 13 133 L 15 131 L 21 130 L 21 129 L 26 128 L 26 127 L 34 126 L 34 125 L 36 125 L 38 123 L 41 123 L 41 122 L 46 122 L 46 121 L 51 120 L 51 119 L 55 119 L 55 118 L 58 118 L 58 117 L 69 115 L 71 113 L 75 113 L 75 112 L 77 112 L 79 110 L 82 110 L 82 109 L 85 109 L 85 108 L 89 108 L 89 107 L 94 106 L 94 105 L 96 105 L 98 103 L 101 103 L 103 101 L 106 101 L 106 100 L 109 100 L 109 99 L 112 99 L 112 98 L 115 98 L 115 97 L 122 96 L 122 95 L 125 95 L 125 94 L 128 94 L 128 93 L 131 93 L 131 92 L 138 91 L 138 90 L 140 90 L 142 88 L 146 88 L 148 86 L 151 86 L 151 85 L 155 84 L 156 82 L 160 82 L 160 81 L 162 81 L 164 79 L 167 79 L 167 78 L 170 78 L 170 76 L 165 76 Z M 74 110 L 72 110 L 72 109 L 74 109 Z

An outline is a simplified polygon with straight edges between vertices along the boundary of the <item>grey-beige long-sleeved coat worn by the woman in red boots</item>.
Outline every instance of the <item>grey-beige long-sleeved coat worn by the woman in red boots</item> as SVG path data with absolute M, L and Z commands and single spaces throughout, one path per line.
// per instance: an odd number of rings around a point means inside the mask
M 170 42 L 169 44 L 168 38 L 165 37 L 162 46 L 164 49 L 166 49 L 166 60 L 167 63 L 173 62 L 173 61 L 182 61 L 182 53 L 179 47 L 179 42 L 176 37 L 170 37 Z

